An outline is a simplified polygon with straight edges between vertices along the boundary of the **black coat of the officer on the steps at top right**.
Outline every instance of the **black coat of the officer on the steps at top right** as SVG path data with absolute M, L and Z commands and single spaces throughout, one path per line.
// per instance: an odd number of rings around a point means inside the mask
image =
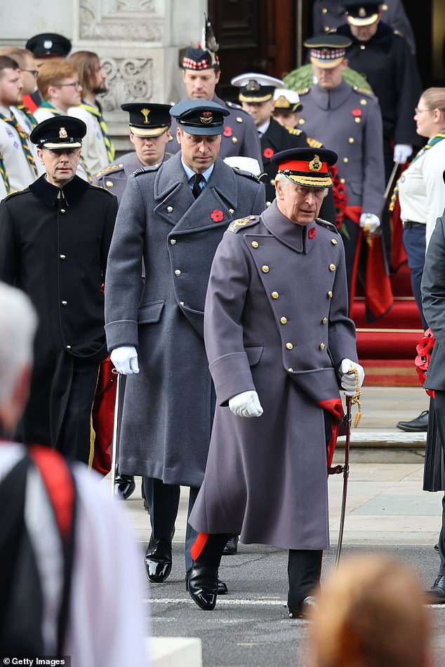
M 366 42 L 356 39 L 349 25 L 338 27 L 336 33 L 352 41 L 347 49 L 349 66 L 366 78 L 378 97 L 385 139 L 421 144 L 413 115 L 423 88 L 406 39 L 381 21 Z

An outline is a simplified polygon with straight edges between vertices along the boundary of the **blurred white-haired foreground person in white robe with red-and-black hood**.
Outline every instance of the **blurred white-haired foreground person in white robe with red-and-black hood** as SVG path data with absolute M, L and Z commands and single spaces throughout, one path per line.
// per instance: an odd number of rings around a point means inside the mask
M 147 667 L 138 559 L 119 503 L 86 466 L 13 441 L 37 316 L 29 297 L 4 283 L 0 311 L 1 656 Z M 126 591 L 118 605 L 116 591 Z

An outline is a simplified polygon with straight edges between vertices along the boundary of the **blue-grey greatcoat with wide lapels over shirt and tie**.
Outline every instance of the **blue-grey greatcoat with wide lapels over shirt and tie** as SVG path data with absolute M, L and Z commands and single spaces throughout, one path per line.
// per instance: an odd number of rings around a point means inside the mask
M 219 158 L 196 200 L 180 154 L 128 178 L 105 281 L 108 348 L 134 345 L 140 365 L 126 379 L 122 473 L 201 484 L 212 421 L 208 276 L 227 225 L 264 208 L 263 184 Z

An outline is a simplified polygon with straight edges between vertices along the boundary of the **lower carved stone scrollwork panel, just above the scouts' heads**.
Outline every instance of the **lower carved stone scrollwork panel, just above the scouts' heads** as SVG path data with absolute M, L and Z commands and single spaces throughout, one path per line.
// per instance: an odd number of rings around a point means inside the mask
M 147 58 L 102 58 L 108 92 L 101 97 L 105 112 L 120 113 L 126 102 L 148 101 L 153 94 L 153 60 Z

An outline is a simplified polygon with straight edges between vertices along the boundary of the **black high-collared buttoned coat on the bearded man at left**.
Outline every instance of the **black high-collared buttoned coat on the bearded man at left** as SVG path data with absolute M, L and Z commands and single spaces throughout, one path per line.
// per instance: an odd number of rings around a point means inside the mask
M 74 176 L 60 190 L 41 176 L 0 204 L 0 280 L 29 295 L 39 314 L 35 363 L 63 349 L 107 356 L 102 283 L 117 198 Z

